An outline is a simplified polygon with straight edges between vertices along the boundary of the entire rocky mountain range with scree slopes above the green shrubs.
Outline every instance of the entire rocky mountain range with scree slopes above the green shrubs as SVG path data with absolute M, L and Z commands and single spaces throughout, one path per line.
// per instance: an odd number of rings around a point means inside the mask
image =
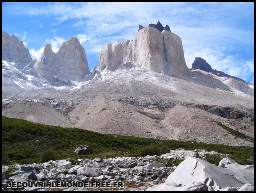
M 254 135 L 254 85 L 185 62 L 182 40 L 158 21 L 134 40 L 108 43 L 89 71 L 76 37 L 57 53 L 47 44 L 32 60 L 2 31 L 2 115 L 35 123 L 158 139 L 227 145 L 253 143 L 217 123 Z

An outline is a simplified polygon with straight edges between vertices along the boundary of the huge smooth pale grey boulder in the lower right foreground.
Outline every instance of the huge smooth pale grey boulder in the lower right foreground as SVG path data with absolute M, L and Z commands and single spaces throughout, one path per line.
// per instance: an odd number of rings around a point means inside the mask
M 253 174 L 244 171 L 240 167 L 221 168 L 199 158 L 187 157 L 178 165 L 175 171 L 168 176 L 164 184 L 153 186 L 147 190 L 187 190 L 188 188 L 176 187 L 175 184 L 190 187 L 194 183 L 200 183 L 197 187 L 202 186 L 202 188 L 204 188 L 203 184 L 222 188 L 242 187 L 246 183 L 254 185 Z

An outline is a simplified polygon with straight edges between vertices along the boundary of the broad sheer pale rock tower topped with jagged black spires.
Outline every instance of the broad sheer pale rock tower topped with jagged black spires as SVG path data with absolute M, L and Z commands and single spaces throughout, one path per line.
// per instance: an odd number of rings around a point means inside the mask
M 108 43 L 95 69 L 102 72 L 135 67 L 167 75 L 190 75 L 180 37 L 168 31 L 169 26 L 165 28 L 158 21 L 149 27 L 140 26 L 132 41 Z

